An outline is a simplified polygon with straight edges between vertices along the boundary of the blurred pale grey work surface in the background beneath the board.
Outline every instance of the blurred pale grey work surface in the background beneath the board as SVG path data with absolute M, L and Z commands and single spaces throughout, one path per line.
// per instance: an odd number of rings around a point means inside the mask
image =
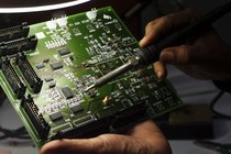
M 174 67 L 169 67 L 169 80 L 174 84 L 178 91 L 178 95 L 185 103 L 209 103 L 212 98 L 217 95 L 218 89 L 210 81 L 195 80 L 188 76 L 183 75 L 183 73 L 176 70 Z M 231 109 L 231 95 L 224 95 L 218 105 L 218 110 L 224 113 L 230 113 Z M 8 129 L 16 129 L 22 125 L 16 113 L 13 111 L 10 102 L 4 101 L 3 106 L 0 108 L 0 125 Z M 219 143 L 228 143 L 231 139 L 231 121 L 227 120 L 215 120 L 215 140 Z M 31 144 L 10 146 L 9 141 L 0 141 L 0 154 L 37 154 L 36 147 Z M 170 140 L 169 144 L 172 146 L 174 154 L 212 154 L 215 152 L 198 147 L 193 144 L 194 141 L 183 141 L 183 140 Z M 9 152 L 9 153 L 4 153 Z

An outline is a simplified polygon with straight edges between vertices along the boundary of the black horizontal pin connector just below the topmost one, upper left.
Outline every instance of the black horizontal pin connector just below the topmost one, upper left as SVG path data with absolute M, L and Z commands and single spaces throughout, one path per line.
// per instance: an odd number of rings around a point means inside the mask
M 35 35 L 0 43 L 0 56 L 14 55 L 19 52 L 35 50 L 37 38 Z

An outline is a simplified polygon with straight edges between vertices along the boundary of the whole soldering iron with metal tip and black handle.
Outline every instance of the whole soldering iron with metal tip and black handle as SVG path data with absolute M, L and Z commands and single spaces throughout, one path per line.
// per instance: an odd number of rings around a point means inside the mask
M 227 14 L 229 11 L 231 11 L 231 2 L 224 3 L 221 7 L 218 7 L 212 11 L 206 13 L 182 31 L 174 32 L 166 37 L 160 40 L 155 44 L 138 50 L 125 64 L 96 79 L 92 85 L 86 88 L 86 91 L 101 87 L 131 69 L 138 69 L 140 67 L 157 62 L 160 59 L 160 54 L 164 48 L 179 44 L 195 32 L 206 30 L 211 25 L 211 23 Z

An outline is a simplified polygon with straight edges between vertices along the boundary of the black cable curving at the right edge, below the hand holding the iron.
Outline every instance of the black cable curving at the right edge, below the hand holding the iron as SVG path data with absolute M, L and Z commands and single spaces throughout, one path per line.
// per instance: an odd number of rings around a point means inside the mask
M 220 90 L 218 92 L 218 95 L 212 99 L 212 101 L 210 103 L 210 109 L 211 109 L 212 113 L 216 116 L 216 118 L 231 119 L 231 116 L 219 112 L 215 108 L 215 106 L 218 105 L 218 102 L 219 102 L 218 100 L 220 100 L 220 98 L 223 96 L 224 92 L 226 92 L 224 90 Z

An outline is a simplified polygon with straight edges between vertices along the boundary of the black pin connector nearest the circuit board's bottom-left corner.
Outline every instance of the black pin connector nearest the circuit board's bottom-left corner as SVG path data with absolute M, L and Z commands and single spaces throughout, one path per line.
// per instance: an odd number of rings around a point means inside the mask
M 21 106 L 26 112 L 28 117 L 30 118 L 31 122 L 33 123 L 37 134 L 41 139 L 46 140 L 50 133 L 51 127 L 44 120 L 43 116 L 38 113 L 38 108 L 34 103 L 33 98 L 29 95 L 28 98 L 23 97 L 21 101 Z

